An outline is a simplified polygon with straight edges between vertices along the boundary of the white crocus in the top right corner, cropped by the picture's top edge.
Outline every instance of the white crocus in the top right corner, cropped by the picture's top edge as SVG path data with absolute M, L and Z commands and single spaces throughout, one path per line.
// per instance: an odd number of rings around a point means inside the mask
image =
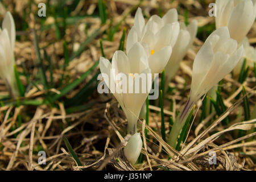
M 232 39 L 238 43 L 249 32 L 256 16 L 255 0 L 216 0 L 216 28 L 229 28 Z

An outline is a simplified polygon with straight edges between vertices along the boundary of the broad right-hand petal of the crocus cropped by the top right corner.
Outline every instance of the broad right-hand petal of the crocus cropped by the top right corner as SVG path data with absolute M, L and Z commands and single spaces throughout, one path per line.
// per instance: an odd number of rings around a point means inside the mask
M 245 38 L 255 20 L 254 6 L 251 1 L 239 3 L 233 10 L 228 27 L 232 39 L 238 43 Z

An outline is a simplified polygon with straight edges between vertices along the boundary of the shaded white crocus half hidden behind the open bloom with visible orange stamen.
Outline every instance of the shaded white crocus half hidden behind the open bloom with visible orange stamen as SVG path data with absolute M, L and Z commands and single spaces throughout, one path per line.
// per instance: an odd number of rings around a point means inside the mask
M 177 69 L 180 67 L 180 62 L 183 60 L 188 49 L 192 46 L 193 41 L 196 38 L 197 21 L 193 20 L 188 27 L 185 23 L 180 23 L 180 33 L 177 38 L 176 44 L 172 49 L 172 55 L 166 65 L 166 83 L 171 81 L 175 76 Z M 168 86 L 166 86 L 168 88 Z

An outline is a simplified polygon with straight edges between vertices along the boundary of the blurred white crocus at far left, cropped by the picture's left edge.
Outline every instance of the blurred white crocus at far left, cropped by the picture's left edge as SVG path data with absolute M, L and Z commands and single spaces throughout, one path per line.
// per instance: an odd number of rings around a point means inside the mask
M 18 97 L 18 88 L 14 75 L 15 24 L 13 16 L 7 11 L 0 28 L 0 77 L 5 81 L 11 97 Z

